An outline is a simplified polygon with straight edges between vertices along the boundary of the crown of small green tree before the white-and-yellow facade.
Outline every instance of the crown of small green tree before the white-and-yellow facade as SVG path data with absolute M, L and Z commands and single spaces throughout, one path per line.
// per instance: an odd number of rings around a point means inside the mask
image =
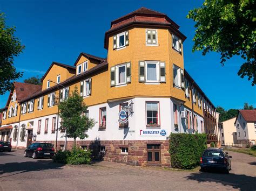
M 95 119 L 84 115 L 86 111 L 87 106 L 78 93 L 77 87 L 66 101 L 59 104 L 59 116 L 62 118 L 60 124 L 66 129 L 66 136 L 74 139 L 74 145 L 76 145 L 76 138 L 87 138 L 86 130 L 95 125 Z

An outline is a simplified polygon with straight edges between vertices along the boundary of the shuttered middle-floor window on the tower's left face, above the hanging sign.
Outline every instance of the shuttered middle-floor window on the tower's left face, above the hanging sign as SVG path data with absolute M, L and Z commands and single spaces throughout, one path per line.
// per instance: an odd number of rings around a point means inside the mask
M 111 67 L 111 86 L 131 83 L 131 62 Z

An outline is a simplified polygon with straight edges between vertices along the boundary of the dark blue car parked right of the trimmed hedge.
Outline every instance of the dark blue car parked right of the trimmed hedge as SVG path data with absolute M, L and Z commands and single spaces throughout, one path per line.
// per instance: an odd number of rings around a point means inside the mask
M 217 169 L 229 173 L 231 171 L 231 156 L 221 148 L 207 148 L 200 158 L 201 171 Z

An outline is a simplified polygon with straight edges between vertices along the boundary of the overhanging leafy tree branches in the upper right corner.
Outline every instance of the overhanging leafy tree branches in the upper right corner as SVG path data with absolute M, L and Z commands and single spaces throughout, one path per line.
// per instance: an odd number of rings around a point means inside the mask
M 190 10 L 187 18 L 196 22 L 192 51 L 221 54 L 221 64 L 234 55 L 246 61 L 238 75 L 248 76 L 256 84 L 255 34 L 256 9 L 254 0 L 205 0 L 203 6 Z

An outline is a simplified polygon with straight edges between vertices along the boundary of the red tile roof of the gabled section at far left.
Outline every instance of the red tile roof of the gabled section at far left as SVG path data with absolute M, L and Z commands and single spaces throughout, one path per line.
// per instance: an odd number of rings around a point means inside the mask
M 21 82 L 14 82 L 14 87 L 18 102 L 21 102 L 22 100 L 24 100 L 24 98 L 29 97 L 30 95 L 35 94 L 37 91 L 42 90 L 41 85 Z

